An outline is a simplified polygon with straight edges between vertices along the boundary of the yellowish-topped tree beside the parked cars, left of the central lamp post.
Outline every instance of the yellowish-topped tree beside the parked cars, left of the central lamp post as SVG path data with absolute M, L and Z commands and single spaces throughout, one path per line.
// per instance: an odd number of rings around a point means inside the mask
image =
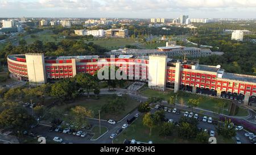
M 76 129 L 81 129 L 82 127 L 88 126 L 87 118 L 92 118 L 92 110 L 87 110 L 85 107 L 76 106 L 71 109 L 71 124 L 74 125 Z

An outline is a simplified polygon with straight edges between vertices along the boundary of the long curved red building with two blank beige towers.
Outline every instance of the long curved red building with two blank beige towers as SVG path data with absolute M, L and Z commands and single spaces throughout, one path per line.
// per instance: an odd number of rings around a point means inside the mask
M 220 66 L 199 65 L 197 61 L 178 61 L 167 56 L 60 56 L 42 53 L 7 57 L 12 77 L 31 83 L 46 83 L 72 78 L 78 73 L 94 74 L 104 66 L 118 66 L 128 79 L 148 82 L 152 89 L 180 89 L 201 93 L 229 93 L 247 103 L 256 96 L 256 77 L 225 73 Z

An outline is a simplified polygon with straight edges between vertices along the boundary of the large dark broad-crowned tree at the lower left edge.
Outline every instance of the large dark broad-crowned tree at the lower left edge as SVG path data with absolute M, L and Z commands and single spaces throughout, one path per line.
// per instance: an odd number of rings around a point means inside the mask
M 0 114 L 0 128 L 13 131 L 17 137 L 34 123 L 34 117 L 28 114 L 23 107 L 9 108 L 3 110 Z

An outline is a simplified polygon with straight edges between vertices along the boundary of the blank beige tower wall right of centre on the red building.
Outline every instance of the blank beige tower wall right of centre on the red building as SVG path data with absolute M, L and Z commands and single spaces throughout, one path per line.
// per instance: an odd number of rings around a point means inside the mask
M 167 79 L 167 56 L 149 56 L 148 87 L 165 90 Z

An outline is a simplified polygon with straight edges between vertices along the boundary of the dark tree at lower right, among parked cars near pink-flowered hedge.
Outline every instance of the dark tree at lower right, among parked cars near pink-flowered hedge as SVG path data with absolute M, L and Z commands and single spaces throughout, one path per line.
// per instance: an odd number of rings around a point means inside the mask
M 222 135 L 226 139 L 237 135 L 236 128 L 230 119 L 226 119 L 224 124 L 218 123 L 216 130 L 219 135 Z

